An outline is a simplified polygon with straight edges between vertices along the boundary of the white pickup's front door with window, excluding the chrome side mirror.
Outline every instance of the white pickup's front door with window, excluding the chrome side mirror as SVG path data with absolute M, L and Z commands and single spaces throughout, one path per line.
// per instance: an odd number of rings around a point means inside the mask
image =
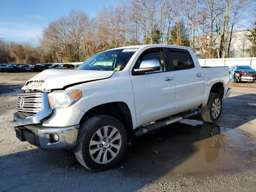
M 164 49 L 151 48 L 143 51 L 139 54 L 134 68 L 139 68 L 143 60 L 158 60 L 161 70 L 130 75 L 137 126 L 170 116 L 175 109 L 175 82 L 171 80 L 174 74 L 168 70 Z

